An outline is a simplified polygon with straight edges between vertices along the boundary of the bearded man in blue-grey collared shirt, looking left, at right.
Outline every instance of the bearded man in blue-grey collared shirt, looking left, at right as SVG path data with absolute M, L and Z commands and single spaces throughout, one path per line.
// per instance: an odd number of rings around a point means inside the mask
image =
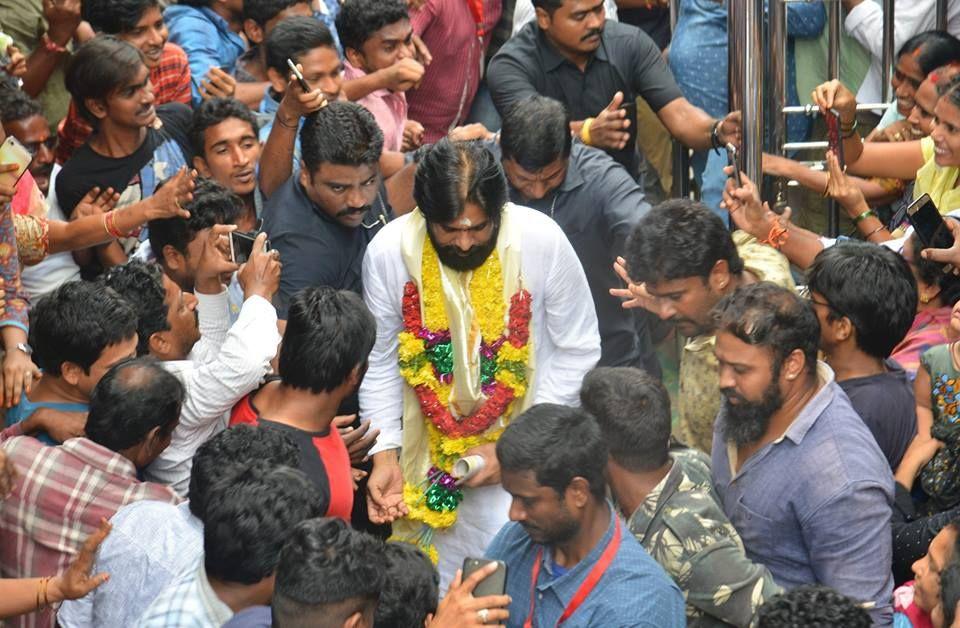
M 890 625 L 893 477 L 824 362 L 813 308 L 770 283 L 713 310 L 723 407 L 713 483 L 747 556 L 777 584 L 833 587 Z

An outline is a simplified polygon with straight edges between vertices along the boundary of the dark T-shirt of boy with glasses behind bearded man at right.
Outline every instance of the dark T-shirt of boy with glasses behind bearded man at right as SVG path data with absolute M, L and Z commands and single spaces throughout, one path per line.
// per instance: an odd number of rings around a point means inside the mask
M 893 360 L 884 364 L 886 373 L 837 384 L 877 439 L 890 468 L 896 469 L 917 433 L 917 406 L 906 371 Z

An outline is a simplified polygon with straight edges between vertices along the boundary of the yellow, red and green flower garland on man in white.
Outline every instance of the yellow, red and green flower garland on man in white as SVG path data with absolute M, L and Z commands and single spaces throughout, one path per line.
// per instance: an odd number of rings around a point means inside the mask
M 419 484 L 405 483 L 403 492 L 408 518 L 424 523 L 415 538 L 406 540 L 435 556 L 433 531 L 456 522 L 456 510 L 463 500 L 463 492 L 450 475 L 453 464 L 468 450 L 495 442 L 513 414 L 514 402 L 527 392 L 531 298 L 521 288 L 511 296 L 507 310 L 496 251 L 473 272 L 469 291 L 480 330 L 484 399 L 473 414 L 458 418 L 448 407 L 453 388 L 453 348 L 440 261 L 429 240 L 424 242 L 421 263 L 423 298 L 413 281 L 404 286 L 399 362 L 400 373 L 416 393 L 426 420 L 432 466 Z

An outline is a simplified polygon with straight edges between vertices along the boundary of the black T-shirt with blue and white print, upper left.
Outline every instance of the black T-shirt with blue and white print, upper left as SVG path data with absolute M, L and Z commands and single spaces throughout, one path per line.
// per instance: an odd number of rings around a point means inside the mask
M 57 201 L 64 215 L 69 216 L 95 186 L 119 192 L 118 207 L 152 196 L 158 183 L 191 162 L 188 133 L 192 115 L 183 103 L 159 105 L 157 119 L 162 126 L 147 129 L 143 144 L 126 157 L 101 155 L 90 148 L 89 141 L 78 148 L 57 175 Z M 148 164 L 152 167 L 145 169 Z

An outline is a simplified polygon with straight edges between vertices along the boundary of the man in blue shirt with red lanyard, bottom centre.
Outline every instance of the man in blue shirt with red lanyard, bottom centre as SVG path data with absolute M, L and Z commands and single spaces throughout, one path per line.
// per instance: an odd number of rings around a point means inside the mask
M 567 618 L 576 626 L 687 625 L 677 585 L 606 500 L 607 453 L 592 416 L 546 403 L 497 441 L 512 523 L 486 557 L 507 564 L 511 626 L 524 618 L 535 626 Z

